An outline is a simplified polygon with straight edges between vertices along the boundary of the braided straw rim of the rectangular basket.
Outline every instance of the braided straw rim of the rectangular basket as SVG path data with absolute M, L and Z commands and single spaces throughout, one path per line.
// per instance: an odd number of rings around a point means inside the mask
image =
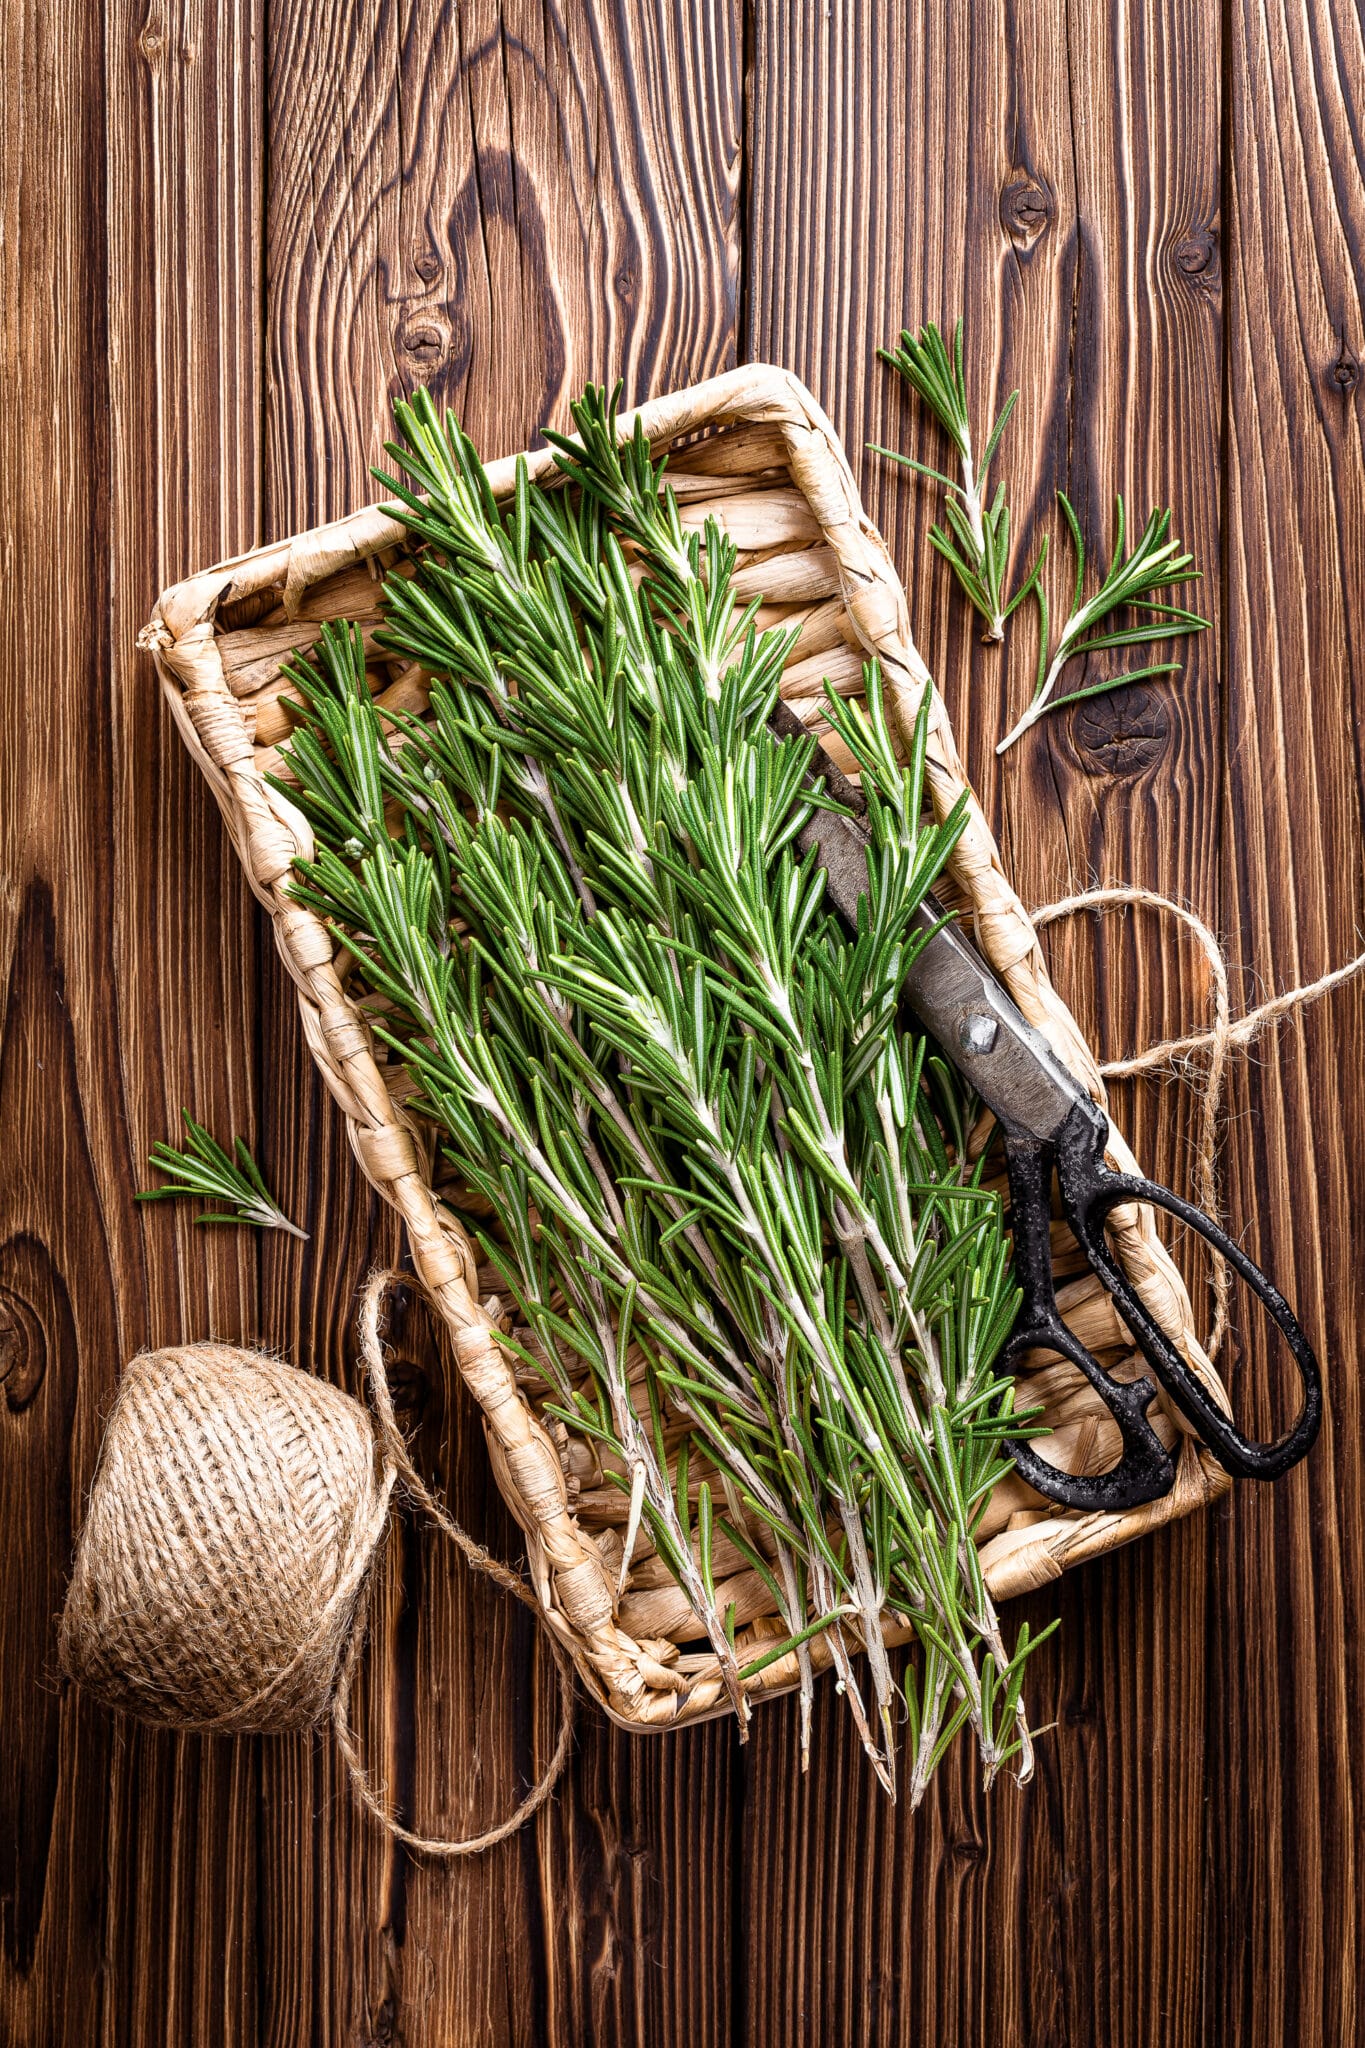
M 892 709 L 913 717 L 931 690 L 927 778 L 943 815 L 966 795 L 966 829 L 952 872 L 972 907 L 976 944 L 1015 1004 L 1105 1108 L 1105 1090 L 1074 1018 L 1052 987 L 1029 915 L 1013 891 L 995 836 L 958 758 L 952 725 L 915 647 L 909 606 L 886 543 L 868 518 L 839 436 L 810 391 L 790 371 L 745 365 L 704 383 L 651 399 L 618 420 L 622 436 L 643 424 L 655 446 L 702 428 L 767 426 L 786 449 L 786 465 L 833 555 L 847 616 L 862 647 L 882 664 Z M 553 467 L 553 451 L 528 455 L 532 477 Z M 516 457 L 487 465 L 493 492 L 510 496 Z M 170 586 L 139 645 L 156 657 L 176 725 L 209 778 L 248 881 L 272 918 L 276 946 L 295 979 L 305 1038 L 344 1110 L 346 1130 L 366 1180 L 407 1225 L 417 1278 L 446 1323 L 460 1374 L 481 1405 L 493 1473 L 528 1546 L 532 1581 L 548 1628 L 569 1647 L 579 1673 L 624 1729 L 677 1726 L 729 1712 L 718 1679 L 690 1686 L 616 1624 L 614 1587 L 593 1538 L 579 1528 L 559 1452 L 493 1341 L 477 1300 L 475 1262 L 454 1217 L 430 1186 L 424 1133 L 393 1102 L 372 1057 L 368 1026 L 336 971 L 329 932 L 287 889 L 297 856 L 313 850 L 307 819 L 264 780 L 244 707 L 231 694 L 217 647 L 223 604 L 278 590 L 295 618 L 311 586 L 389 549 L 405 528 L 383 506 L 366 506 L 287 541 L 250 549 Z M 1109 1124 L 1109 1157 L 1136 1171 L 1121 1133 Z M 1185 1284 L 1160 1243 L 1150 1210 L 1115 1212 L 1115 1253 L 1148 1311 L 1175 1335 L 1191 1368 L 1226 1401 L 1203 1356 Z M 1177 1419 L 1179 1421 L 1179 1419 Z M 1121 1513 L 1048 1511 L 1025 1540 L 986 1571 L 995 1597 L 1009 1597 L 1058 1577 L 1066 1567 L 1177 1520 L 1230 1485 L 1222 1466 L 1181 1427 L 1175 1489 L 1160 1501 Z M 888 1628 L 888 1640 L 900 1632 Z M 812 1645 L 827 1663 L 823 1638 Z M 786 1692 L 794 1659 L 749 1681 L 753 1696 Z

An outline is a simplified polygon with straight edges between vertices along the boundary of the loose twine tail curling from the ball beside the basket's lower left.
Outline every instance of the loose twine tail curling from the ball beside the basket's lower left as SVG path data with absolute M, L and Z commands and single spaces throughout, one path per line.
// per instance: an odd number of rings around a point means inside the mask
M 448 1839 L 444 1835 L 417 1835 L 413 1829 L 403 1827 L 395 1821 L 393 1812 L 385 1806 L 383 1792 L 377 1792 L 370 1784 L 368 1772 L 360 1761 L 360 1751 L 356 1747 L 356 1737 L 350 1726 L 350 1688 L 356 1673 L 356 1663 L 360 1657 L 360 1642 L 364 1636 L 362 1628 L 354 1628 L 346 1649 L 342 1653 L 342 1663 L 338 1669 L 336 1692 L 332 1696 L 332 1726 L 336 1731 L 336 1741 L 346 1761 L 352 1788 L 360 1804 L 379 1821 L 379 1825 L 393 1835 L 395 1841 L 405 1843 L 409 1849 L 417 1849 L 422 1855 L 436 1855 L 452 1860 L 456 1855 L 479 1855 L 483 1849 L 497 1847 L 508 1835 L 516 1835 L 534 1812 L 544 1806 L 551 1792 L 563 1776 L 565 1763 L 569 1761 L 569 1749 L 573 1743 L 573 1663 L 565 1651 L 559 1636 L 551 1630 L 540 1614 L 540 1602 L 534 1591 L 526 1585 L 520 1573 L 501 1565 L 481 1542 L 463 1530 L 454 1516 L 436 1499 L 428 1489 L 426 1481 L 413 1466 L 407 1454 L 407 1442 L 399 1430 L 399 1419 L 393 1409 L 393 1395 L 389 1393 L 389 1374 L 385 1372 L 385 1350 L 383 1350 L 383 1309 L 391 1286 L 403 1286 L 407 1274 L 385 1272 L 383 1268 L 372 1272 L 364 1284 L 364 1294 L 360 1296 L 360 1358 L 364 1362 L 370 1405 L 375 1409 L 375 1419 L 379 1425 L 379 1440 L 385 1454 L 385 1464 L 393 1468 L 399 1479 L 403 1493 L 415 1501 L 442 1530 L 444 1536 L 465 1554 L 475 1571 L 485 1573 L 495 1585 L 501 1585 L 505 1593 L 520 1599 L 524 1608 L 536 1616 L 542 1624 L 542 1632 L 551 1651 L 555 1655 L 555 1667 L 559 1673 L 559 1741 L 555 1745 L 555 1755 L 546 1763 L 544 1772 L 530 1788 L 520 1806 L 499 1821 L 497 1827 L 485 1829 L 481 1835 L 469 1835 L 463 1839 Z

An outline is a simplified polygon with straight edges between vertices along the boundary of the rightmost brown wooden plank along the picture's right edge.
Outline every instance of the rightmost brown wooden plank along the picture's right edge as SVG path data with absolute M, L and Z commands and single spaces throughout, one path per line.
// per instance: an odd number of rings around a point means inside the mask
M 1232 6 L 1228 57 L 1224 915 L 1259 993 L 1340 965 L 1363 924 L 1361 20 Z M 1283 1026 L 1234 1094 L 1230 1202 L 1304 1305 L 1328 1423 L 1304 1470 L 1218 1528 L 1212 2042 L 1361 2028 L 1361 1073 L 1365 1001 L 1347 989 Z M 1234 1356 L 1238 1405 L 1269 1427 L 1283 1358 L 1252 1319 Z

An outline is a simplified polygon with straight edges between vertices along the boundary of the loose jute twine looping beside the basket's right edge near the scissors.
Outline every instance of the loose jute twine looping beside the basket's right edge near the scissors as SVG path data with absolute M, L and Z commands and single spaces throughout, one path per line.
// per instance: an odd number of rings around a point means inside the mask
M 1254 1010 L 1248 1010 L 1244 1016 L 1232 1020 L 1232 1004 L 1228 997 L 1228 961 L 1224 950 L 1203 918 L 1197 918 L 1195 911 L 1187 909 L 1183 903 L 1175 903 L 1171 897 L 1158 895 L 1154 889 L 1113 885 L 1062 897 L 1056 903 L 1046 903 L 1042 909 L 1029 911 L 1029 915 L 1036 926 L 1046 926 L 1056 924 L 1058 918 L 1074 918 L 1085 909 L 1128 909 L 1130 905 L 1142 905 L 1177 918 L 1189 932 L 1195 934 L 1209 969 L 1209 983 L 1214 989 L 1214 1022 L 1205 1030 L 1185 1032 L 1181 1038 L 1162 1038 L 1158 1044 L 1148 1047 L 1144 1053 L 1134 1053 L 1128 1059 L 1109 1059 L 1099 1071 L 1105 1081 L 1124 1081 L 1138 1073 L 1156 1073 L 1162 1067 L 1189 1067 L 1199 1053 L 1207 1053 L 1203 1085 L 1199 1090 L 1199 1124 L 1195 1130 L 1195 1196 L 1199 1208 L 1212 1217 L 1214 1223 L 1222 1223 L 1222 1196 L 1218 1190 L 1218 1135 L 1228 1085 L 1228 1059 L 1232 1057 L 1232 1051 L 1248 1047 L 1267 1028 L 1267 1024 L 1275 1024 L 1291 1012 L 1306 1010 L 1308 1004 L 1316 1004 L 1332 989 L 1342 987 L 1347 981 L 1355 981 L 1357 975 L 1365 973 L 1365 952 L 1357 952 L 1357 956 L 1347 961 L 1345 967 L 1334 967 L 1316 981 L 1308 981 L 1297 989 L 1285 989 L 1281 995 L 1271 995 L 1269 1001 L 1257 1004 Z M 1214 1264 L 1214 1329 L 1205 1343 L 1205 1352 L 1209 1360 L 1214 1360 L 1218 1358 L 1222 1341 L 1228 1333 L 1232 1276 L 1226 1260 L 1212 1249 L 1209 1260 Z

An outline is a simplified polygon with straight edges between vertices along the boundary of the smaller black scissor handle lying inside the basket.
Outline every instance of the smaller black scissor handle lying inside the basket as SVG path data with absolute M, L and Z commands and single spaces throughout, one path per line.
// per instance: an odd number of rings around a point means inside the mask
M 1001 1364 L 1009 1370 L 1025 1352 L 1060 1352 L 1087 1376 L 1121 1438 L 1119 1462 L 1107 1473 L 1064 1473 L 1023 1438 L 1009 1444 L 1009 1454 L 1029 1487 L 1064 1507 L 1111 1511 L 1156 1501 L 1175 1485 L 1175 1460 L 1146 1419 L 1156 1386 L 1152 1380 L 1128 1384 L 1105 1372 L 1066 1327 L 1056 1305 L 1050 1243 L 1054 1147 L 1036 1139 L 1011 1139 L 1007 1161 L 1015 1280 L 1023 1300 Z

